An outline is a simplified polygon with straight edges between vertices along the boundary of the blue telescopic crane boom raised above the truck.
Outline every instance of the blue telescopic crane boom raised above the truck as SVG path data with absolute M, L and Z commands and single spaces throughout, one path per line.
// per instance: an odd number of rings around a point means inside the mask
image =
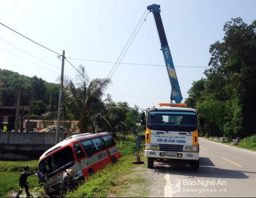
M 161 43 L 161 50 L 164 55 L 165 65 L 167 67 L 167 72 L 168 72 L 170 83 L 172 86 L 171 103 L 172 103 L 172 100 L 174 100 L 175 103 L 180 103 L 183 98 L 180 91 L 178 78 L 177 78 L 173 61 L 172 61 L 171 51 L 167 42 L 164 26 L 163 26 L 161 15 L 160 15 L 160 12 L 161 12 L 160 5 L 152 4 L 147 7 L 147 10 L 150 10 L 150 12 L 153 13 L 154 19 L 156 21 L 157 32 L 158 32 L 160 43 Z

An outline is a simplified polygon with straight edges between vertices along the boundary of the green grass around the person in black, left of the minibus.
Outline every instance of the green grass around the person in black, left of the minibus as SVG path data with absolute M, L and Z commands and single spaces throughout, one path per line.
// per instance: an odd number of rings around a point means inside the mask
M 18 193 L 19 176 L 24 166 L 30 167 L 30 172 L 38 170 L 38 161 L 0 161 L 0 197 L 7 197 L 11 191 Z M 28 177 L 29 188 L 38 186 L 38 178 L 35 175 Z M 25 192 L 25 189 L 24 189 Z

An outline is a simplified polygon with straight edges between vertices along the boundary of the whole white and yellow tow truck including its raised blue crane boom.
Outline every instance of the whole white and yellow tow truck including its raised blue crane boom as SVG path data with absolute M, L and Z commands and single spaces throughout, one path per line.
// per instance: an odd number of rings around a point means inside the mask
M 171 103 L 159 103 L 143 111 L 142 123 L 146 124 L 147 167 L 157 162 L 179 162 L 199 168 L 199 143 L 197 111 L 186 108 L 160 15 L 160 5 L 152 4 L 147 10 L 153 12 L 160 38 L 161 50 L 171 83 Z M 175 103 L 173 103 L 173 100 Z

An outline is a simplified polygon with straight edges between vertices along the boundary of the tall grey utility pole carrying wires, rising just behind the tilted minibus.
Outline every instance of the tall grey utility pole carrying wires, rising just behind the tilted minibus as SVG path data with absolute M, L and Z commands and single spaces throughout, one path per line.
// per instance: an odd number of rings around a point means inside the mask
M 57 130 L 56 130 L 55 144 L 59 143 L 59 131 L 60 131 L 60 128 L 61 128 L 61 103 L 62 103 L 64 61 L 65 61 L 65 50 L 62 51 L 61 83 L 60 83 L 60 86 L 59 86 L 59 108 L 58 108 L 58 118 L 57 118 Z

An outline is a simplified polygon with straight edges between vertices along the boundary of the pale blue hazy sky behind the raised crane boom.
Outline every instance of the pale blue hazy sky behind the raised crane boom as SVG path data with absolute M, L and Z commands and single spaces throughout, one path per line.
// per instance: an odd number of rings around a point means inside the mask
M 1 0 L 0 22 L 59 54 L 65 50 L 67 60 L 76 68 L 83 65 L 92 80 L 109 75 L 114 63 L 106 62 L 118 60 L 147 6 L 154 3 L 161 6 L 184 102 L 193 81 L 205 78 L 209 47 L 222 41 L 224 23 L 241 17 L 251 24 L 255 0 Z M 170 102 L 171 84 L 151 13 L 121 63 L 131 64 L 114 67 L 105 95 L 142 109 Z M 64 74 L 74 78 L 72 65 L 65 60 Z M 0 25 L 0 68 L 58 83 L 61 60 Z

